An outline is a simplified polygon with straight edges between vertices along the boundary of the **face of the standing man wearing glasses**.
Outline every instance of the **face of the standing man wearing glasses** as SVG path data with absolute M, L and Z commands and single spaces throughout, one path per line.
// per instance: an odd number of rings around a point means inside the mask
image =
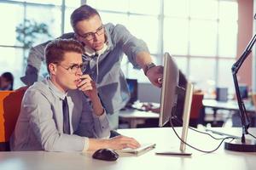
M 76 37 L 87 47 L 96 51 L 101 50 L 105 42 L 105 30 L 100 17 L 94 15 L 89 20 L 79 21 L 76 25 Z

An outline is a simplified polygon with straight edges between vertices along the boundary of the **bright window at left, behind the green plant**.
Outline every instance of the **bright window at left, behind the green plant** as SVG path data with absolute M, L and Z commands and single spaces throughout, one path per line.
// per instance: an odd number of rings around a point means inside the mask
M 22 24 L 24 20 L 44 23 L 49 27 L 51 37 L 40 36 L 33 45 L 47 40 L 60 37 L 61 30 L 72 31 L 69 18 L 71 11 L 80 5 L 80 0 L 64 1 L 62 0 L 12 0 L 0 2 L 0 20 L 4 23 L 0 31 L 0 74 L 10 71 L 15 76 L 15 87 L 20 88 L 24 84 L 20 81 L 20 77 L 24 76 L 26 69 L 26 57 L 28 49 L 23 48 L 23 43 L 16 39 L 16 26 Z M 61 7 L 65 6 L 65 11 L 61 11 Z M 11 12 L 10 12 L 11 11 Z M 61 15 L 65 13 L 65 22 L 62 22 Z M 6 17 L 9 21 L 6 22 Z M 45 75 L 47 72 L 44 66 L 41 68 L 40 74 Z

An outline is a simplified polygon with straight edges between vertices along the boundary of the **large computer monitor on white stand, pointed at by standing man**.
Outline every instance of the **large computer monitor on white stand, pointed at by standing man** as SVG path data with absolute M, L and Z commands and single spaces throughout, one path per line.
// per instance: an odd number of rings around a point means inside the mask
M 164 55 L 164 73 L 163 73 L 163 84 L 161 89 L 161 98 L 160 98 L 160 119 L 159 126 L 163 127 L 166 122 L 171 122 L 172 116 L 177 105 L 177 95 L 184 94 L 184 106 L 183 106 L 183 130 L 181 136 L 181 144 L 178 151 L 160 151 L 156 154 L 164 155 L 191 155 L 191 153 L 185 152 L 185 144 L 187 139 L 187 133 L 189 128 L 189 115 L 190 107 L 193 95 L 193 85 L 188 82 L 186 89 L 180 88 L 178 86 L 178 77 L 179 71 L 175 61 L 172 59 L 171 55 L 166 53 Z M 182 92 L 183 91 L 183 92 Z

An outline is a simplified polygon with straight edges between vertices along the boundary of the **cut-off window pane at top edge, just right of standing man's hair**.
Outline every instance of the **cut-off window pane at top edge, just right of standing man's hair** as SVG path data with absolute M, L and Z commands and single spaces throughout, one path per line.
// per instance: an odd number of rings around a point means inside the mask
M 86 3 L 99 10 L 119 11 L 123 13 L 128 12 L 129 7 L 127 0 L 87 0 Z

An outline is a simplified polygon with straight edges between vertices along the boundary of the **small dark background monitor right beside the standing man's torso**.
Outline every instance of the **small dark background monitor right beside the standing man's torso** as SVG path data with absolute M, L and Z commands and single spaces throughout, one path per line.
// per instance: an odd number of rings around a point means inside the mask
M 126 82 L 130 92 L 130 99 L 126 104 L 126 107 L 130 107 L 137 101 L 137 79 L 126 78 Z

